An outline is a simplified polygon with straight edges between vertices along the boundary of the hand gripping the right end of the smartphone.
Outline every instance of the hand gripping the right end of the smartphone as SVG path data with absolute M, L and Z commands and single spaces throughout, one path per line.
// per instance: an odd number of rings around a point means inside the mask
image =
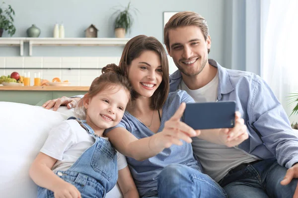
M 248 138 L 247 127 L 239 112 L 235 113 L 235 125 L 230 129 L 220 129 L 220 138 L 224 145 L 228 147 L 236 146 Z

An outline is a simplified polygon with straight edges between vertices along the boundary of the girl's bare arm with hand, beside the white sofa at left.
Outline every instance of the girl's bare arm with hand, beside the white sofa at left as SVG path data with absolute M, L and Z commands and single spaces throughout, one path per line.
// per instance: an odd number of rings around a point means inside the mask
M 51 168 L 57 159 L 40 152 L 32 163 L 29 175 L 40 187 L 54 192 L 55 197 L 81 198 L 80 192 L 70 183 L 58 177 Z

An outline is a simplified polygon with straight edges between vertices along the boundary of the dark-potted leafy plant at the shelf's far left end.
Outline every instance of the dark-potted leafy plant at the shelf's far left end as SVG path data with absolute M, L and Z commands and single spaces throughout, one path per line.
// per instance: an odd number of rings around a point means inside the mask
M 10 5 L 6 8 L 2 8 L 5 5 L 5 2 L 2 2 L 0 6 L 0 37 L 2 37 L 3 31 L 8 31 L 10 36 L 14 35 L 15 27 L 13 25 L 13 18 L 14 10 L 11 8 Z

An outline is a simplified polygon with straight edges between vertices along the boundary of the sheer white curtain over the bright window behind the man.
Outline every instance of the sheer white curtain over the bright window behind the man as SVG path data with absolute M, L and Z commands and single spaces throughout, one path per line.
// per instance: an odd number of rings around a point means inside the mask
M 298 93 L 298 0 L 262 1 L 261 76 L 290 116 L 295 105 L 288 96 Z

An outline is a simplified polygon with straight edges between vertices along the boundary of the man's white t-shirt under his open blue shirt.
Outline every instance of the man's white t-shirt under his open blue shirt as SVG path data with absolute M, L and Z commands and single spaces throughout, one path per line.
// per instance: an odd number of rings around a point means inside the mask
M 185 90 L 196 102 L 216 102 L 218 97 L 219 72 L 204 87 L 196 90 L 189 89 L 181 80 L 179 89 Z M 199 158 L 203 172 L 216 182 L 219 182 L 229 170 L 242 163 L 255 161 L 251 155 L 235 147 L 227 147 L 193 137 L 194 154 Z

